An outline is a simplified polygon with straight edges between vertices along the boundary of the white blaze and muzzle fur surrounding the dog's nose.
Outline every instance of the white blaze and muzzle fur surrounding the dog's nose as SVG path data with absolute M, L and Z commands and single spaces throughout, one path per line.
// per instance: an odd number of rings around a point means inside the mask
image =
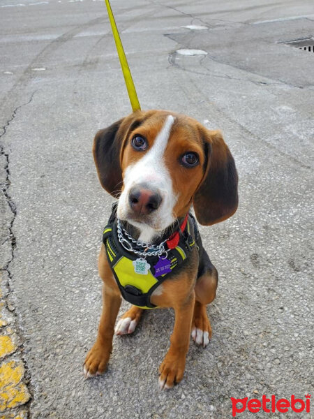
M 170 137 L 170 131 L 174 123 L 174 117 L 168 115 L 163 128 L 158 133 L 153 147 L 137 161 L 137 163 L 126 168 L 124 173 L 124 191 L 121 193 L 118 205 L 118 217 L 126 220 L 130 212 L 128 195 L 133 186 L 141 183 L 147 183 L 152 188 L 157 189 L 163 198 L 160 207 L 151 214 L 154 223 L 149 226 L 128 220 L 142 230 L 144 236 L 154 235 L 155 230 L 164 230 L 174 222 L 172 210 L 177 201 L 172 189 L 172 179 L 170 172 L 165 166 L 165 149 Z M 144 233 L 144 230 L 145 233 Z M 141 235 L 141 240 L 144 238 Z

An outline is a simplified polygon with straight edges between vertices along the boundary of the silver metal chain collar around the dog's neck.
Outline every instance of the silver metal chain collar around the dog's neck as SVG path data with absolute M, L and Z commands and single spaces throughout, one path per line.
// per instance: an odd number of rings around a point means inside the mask
M 131 235 L 128 234 L 126 230 L 121 226 L 121 222 L 117 219 L 117 232 L 118 232 L 118 239 L 121 246 L 124 247 L 127 251 L 132 251 L 133 253 L 140 255 L 140 256 L 160 256 L 165 253 L 165 258 L 167 258 L 167 250 L 165 249 L 165 242 L 164 240 L 158 246 L 156 244 L 141 242 L 140 240 L 135 240 Z M 133 244 L 137 247 L 141 247 L 144 251 L 140 251 L 133 248 Z

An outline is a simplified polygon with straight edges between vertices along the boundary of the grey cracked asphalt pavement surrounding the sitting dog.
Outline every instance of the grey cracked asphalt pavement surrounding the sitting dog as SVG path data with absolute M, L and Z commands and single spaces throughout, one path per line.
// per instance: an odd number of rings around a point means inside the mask
M 314 390 L 313 1 L 112 0 L 112 9 L 142 109 L 221 129 L 237 163 L 239 210 L 201 228 L 220 275 L 213 338 L 205 349 L 191 339 L 184 380 L 160 392 L 174 315 L 147 311 L 133 336 L 114 337 L 107 372 L 84 381 L 112 204 L 91 145 L 130 104 L 103 1 L 0 0 L 0 417 L 229 419 L 230 397 L 305 402 Z M 311 51 L 287 45 L 299 39 Z M 308 413 L 237 417 L 310 419 L 313 397 Z

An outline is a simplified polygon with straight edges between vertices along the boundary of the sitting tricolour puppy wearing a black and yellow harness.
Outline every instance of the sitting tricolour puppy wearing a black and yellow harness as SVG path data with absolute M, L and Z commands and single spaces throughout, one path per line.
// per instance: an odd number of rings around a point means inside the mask
M 137 110 L 98 131 L 93 153 L 100 184 L 118 201 L 98 259 L 103 310 L 84 376 L 105 372 L 122 295 L 133 305 L 117 335 L 134 332 L 144 309 L 174 309 L 158 380 L 161 389 L 172 388 L 184 376 L 190 334 L 196 344 L 209 344 L 207 304 L 218 284 L 190 208 L 204 226 L 236 212 L 234 159 L 220 131 L 165 110 Z

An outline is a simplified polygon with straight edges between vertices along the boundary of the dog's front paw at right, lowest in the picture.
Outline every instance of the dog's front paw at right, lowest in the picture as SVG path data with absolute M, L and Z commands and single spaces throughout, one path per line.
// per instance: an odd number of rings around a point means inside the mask
M 172 355 L 168 352 L 159 368 L 160 376 L 158 384 L 160 390 L 167 390 L 172 388 L 174 384 L 179 383 L 184 376 L 185 367 L 185 355 Z

